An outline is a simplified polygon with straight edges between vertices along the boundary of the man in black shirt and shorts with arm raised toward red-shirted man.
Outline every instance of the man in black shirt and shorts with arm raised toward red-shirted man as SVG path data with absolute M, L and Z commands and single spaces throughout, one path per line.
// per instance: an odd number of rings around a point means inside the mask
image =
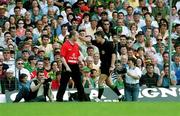
M 118 99 L 122 99 L 122 94 L 118 88 L 113 85 L 110 74 L 115 68 L 116 51 L 113 43 L 109 42 L 104 38 L 104 32 L 98 31 L 95 33 L 96 40 L 91 40 L 92 44 L 99 48 L 100 59 L 101 59 L 101 75 L 98 81 L 99 92 L 98 97 L 95 99 L 97 102 L 100 101 L 101 96 L 104 92 L 104 82 L 118 95 Z

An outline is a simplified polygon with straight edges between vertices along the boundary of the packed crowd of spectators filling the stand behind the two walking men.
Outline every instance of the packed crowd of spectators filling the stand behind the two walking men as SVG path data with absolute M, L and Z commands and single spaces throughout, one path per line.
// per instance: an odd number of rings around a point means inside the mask
M 140 86 L 180 85 L 180 1 L 172 2 L 170 8 L 170 0 L 0 0 L 0 93 L 20 88 L 20 77 L 38 79 L 40 71 L 43 78 L 52 79 L 50 89 L 57 90 L 60 50 L 72 30 L 79 33 L 84 88 L 98 88 L 103 53 L 88 41 L 96 39 L 97 31 L 103 31 L 116 49 L 112 81 L 118 88 L 133 81 L 129 76 L 137 75 L 130 71 L 129 61 L 138 68 L 140 78 L 135 81 Z M 75 88 L 72 78 L 68 88 Z

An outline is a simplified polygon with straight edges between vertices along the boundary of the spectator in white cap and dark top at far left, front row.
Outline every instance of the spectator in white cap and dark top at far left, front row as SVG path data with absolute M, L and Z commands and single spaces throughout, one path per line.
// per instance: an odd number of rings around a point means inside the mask
M 2 63 L 0 63 L 0 67 L 2 67 Z M 5 94 L 5 91 L 13 91 L 18 88 L 18 79 L 14 77 L 15 70 L 12 68 L 7 69 L 5 77 L 1 80 L 1 93 Z

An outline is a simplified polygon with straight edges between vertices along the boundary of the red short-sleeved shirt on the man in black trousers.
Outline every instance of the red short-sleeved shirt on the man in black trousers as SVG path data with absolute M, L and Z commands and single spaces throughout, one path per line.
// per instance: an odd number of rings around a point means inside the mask
M 67 40 L 61 47 L 60 55 L 65 58 L 68 64 L 77 64 L 80 56 L 78 44 L 71 44 Z

